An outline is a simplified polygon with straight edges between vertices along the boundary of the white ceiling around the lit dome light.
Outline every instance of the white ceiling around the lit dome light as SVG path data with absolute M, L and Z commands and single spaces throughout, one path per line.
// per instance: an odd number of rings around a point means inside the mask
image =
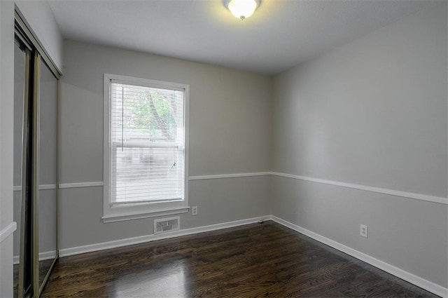
M 262 0 L 238 20 L 221 0 L 50 0 L 66 39 L 276 74 L 435 1 Z

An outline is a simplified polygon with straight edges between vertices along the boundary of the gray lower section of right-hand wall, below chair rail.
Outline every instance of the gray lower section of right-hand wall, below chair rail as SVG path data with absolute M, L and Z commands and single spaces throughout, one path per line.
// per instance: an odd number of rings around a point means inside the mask
M 275 217 L 447 287 L 447 205 L 286 177 L 272 194 Z

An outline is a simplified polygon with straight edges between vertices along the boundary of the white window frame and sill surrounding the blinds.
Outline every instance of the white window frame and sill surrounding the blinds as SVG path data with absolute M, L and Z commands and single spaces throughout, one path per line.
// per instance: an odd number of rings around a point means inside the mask
M 183 201 L 155 201 L 129 204 L 111 204 L 111 81 L 119 83 L 147 86 L 151 88 L 181 88 L 185 92 L 185 181 Z M 152 79 L 134 78 L 116 74 L 104 74 L 104 136 L 103 136 L 103 216 L 104 223 L 121 222 L 130 219 L 158 217 L 186 213 L 188 205 L 188 115 L 189 115 L 190 86 L 182 83 L 156 81 Z

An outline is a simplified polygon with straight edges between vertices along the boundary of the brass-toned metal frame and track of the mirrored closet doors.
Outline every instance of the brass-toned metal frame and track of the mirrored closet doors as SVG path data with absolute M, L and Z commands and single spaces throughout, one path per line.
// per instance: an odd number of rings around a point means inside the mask
M 42 283 L 40 283 L 40 271 L 39 271 L 39 135 L 40 135 L 40 84 L 41 84 L 41 61 L 45 62 L 45 65 L 48 66 L 50 69 L 50 72 L 55 76 L 55 79 L 57 79 L 57 90 L 56 94 L 59 96 L 59 78 L 61 73 L 55 67 L 55 63 L 51 60 L 48 53 L 45 51 L 41 43 L 36 38 L 36 35 L 32 31 L 31 27 L 26 22 L 25 18 L 23 17 L 22 13 L 20 13 L 17 6 L 15 6 L 15 36 L 18 40 L 20 40 L 20 43 L 23 43 L 25 45 L 25 56 L 26 56 L 26 62 L 25 62 L 25 92 L 24 92 L 24 122 L 23 122 L 23 128 L 22 128 L 22 207 L 21 207 L 21 231 L 20 231 L 20 255 L 23 256 L 25 252 L 25 248 L 23 245 L 23 241 L 25 240 L 25 201 L 26 201 L 26 187 L 27 184 L 25 183 L 26 180 L 26 165 L 27 165 L 27 146 L 32 146 L 32 189 L 31 189 L 31 196 L 32 196 L 32 202 L 31 202 L 31 289 L 24 289 L 24 276 L 25 276 L 25 269 L 23 266 L 23 262 L 20 262 L 19 265 L 19 285 L 18 285 L 18 294 L 19 297 L 22 297 L 22 295 L 29 294 L 32 295 L 32 297 L 39 297 L 43 287 L 45 286 L 45 283 L 48 280 L 48 277 L 50 276 L 50 272 L 52 271 L 52 268 L 55 266 L 55 263 L 57 259 L 59 258 L 59 246 L 58 246 L 58 237 L 56 233 L 56 256 L 55 259 L 52 260 L 52 264 L 50 265 L 50 268 L 45 273 L 45 277 L 43 278 Z M 29 97 L 31 96 L 30 99 Z M 32 144 L 27 144 L 27 135 L 25 130 L 27 129 L 27 126 L 29 125 L 29 103 L 32 102 Z M 58 105 L 59 100 L 57 100 Z M 56 107 L 56 110 L 59 108 Z M 56 116 L 56 123 L 58 122 L 57 116 Z M 56 135 L 57 127 L 56 127 Z M 57 152 L 59 150 L 57 149 Z M 56 156 L 56 169 L 57 169 L 57 156 Z M 57 185 L 57 175 L 56 175 L 56 185 Z M 56 190 L 57 191 L 57 190 Z M 56 199 L 56 210 L 57 210 L 57 199 Z M 56 231 L 57 231 L 57 213 L 56 213 Z M 24 292 L 24 290 L 27 290 L 27 292 Z

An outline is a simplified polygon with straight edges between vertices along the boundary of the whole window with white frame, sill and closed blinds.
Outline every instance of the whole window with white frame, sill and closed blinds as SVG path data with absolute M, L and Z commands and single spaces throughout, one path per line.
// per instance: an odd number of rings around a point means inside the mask
M 104 74 L 104 222 L 188 212 L 188 85 Z

